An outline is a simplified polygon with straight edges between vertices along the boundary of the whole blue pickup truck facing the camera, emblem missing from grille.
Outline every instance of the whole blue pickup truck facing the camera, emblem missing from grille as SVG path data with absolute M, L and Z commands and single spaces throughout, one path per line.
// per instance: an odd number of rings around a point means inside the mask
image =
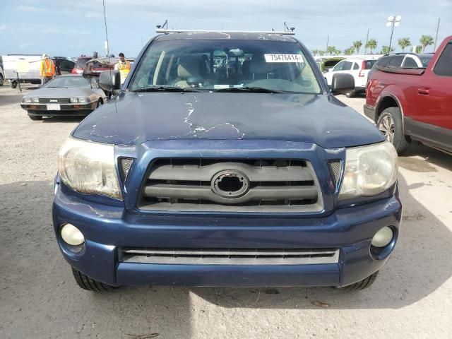
M 80 287 L 374 282 L 400 227 L 396 150 L 292 35 L 165 32 L 124 85 L 100 85 L 117 95 L 61 146 L 55 180 Z

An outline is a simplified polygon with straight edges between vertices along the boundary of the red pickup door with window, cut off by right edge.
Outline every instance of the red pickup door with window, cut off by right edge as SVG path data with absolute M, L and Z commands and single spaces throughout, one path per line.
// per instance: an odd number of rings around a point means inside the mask
M 412 132 L 438 147 L 452 148 L 452 40 L 420 78 Z

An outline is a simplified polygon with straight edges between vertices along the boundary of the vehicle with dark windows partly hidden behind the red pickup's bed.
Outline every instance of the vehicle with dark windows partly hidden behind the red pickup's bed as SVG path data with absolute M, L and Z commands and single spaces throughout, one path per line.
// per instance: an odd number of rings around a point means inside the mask
M 386 54 L 374 63 L 372 69 L 367 74 L 367 80 L 369 81 L 371 73 L 376 66 L 383 67 L 403 67 L 404 69 L 417 69 L 426 68 L 432 60 L 433 53 L 393 53 Z

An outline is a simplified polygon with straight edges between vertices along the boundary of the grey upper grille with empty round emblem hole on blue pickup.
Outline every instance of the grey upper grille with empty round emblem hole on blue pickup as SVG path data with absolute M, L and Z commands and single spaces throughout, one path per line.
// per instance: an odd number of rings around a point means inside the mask
M 138 208 L 215 212 L 316 212 L 323 208 L 304 160 L 160 159 Z

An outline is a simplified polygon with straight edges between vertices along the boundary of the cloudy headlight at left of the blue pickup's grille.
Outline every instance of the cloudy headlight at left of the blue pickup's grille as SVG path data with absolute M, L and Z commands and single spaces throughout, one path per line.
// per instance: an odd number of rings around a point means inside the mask
M 59 150 L 61 181 L 85 194 L 121 199 L 114 165 L 114 145 L 69 137 Z

